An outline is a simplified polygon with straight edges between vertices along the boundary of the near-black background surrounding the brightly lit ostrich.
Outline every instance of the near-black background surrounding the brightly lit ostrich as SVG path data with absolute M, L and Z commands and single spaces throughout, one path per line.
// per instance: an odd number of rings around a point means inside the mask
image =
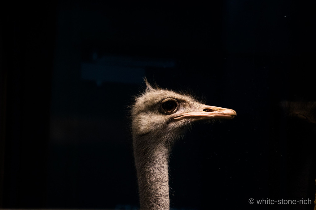
M 315 4 L 3 6 L 0 207 L 138 209 L 129 106 L 146 76 L 237 112 L 175 144 L 172 209 L 313 209 L 315 122 L 282 104 L 315 101 Z

